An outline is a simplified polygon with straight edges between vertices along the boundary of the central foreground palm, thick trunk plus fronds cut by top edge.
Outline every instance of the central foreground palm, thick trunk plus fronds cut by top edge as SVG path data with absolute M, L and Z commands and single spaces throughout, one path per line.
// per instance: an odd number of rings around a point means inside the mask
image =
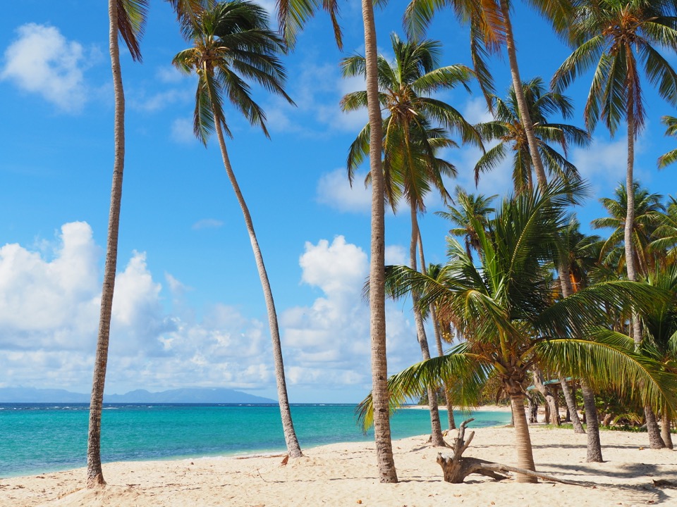
M 276 0 L 280 30 L 287 44 L 293 46 L 298 32 L 318 8 L 323 8 L 334 25 L 336 44 L 342 47 L 336 0 L 322 3 L 307 0 Z M 372 363 L 372 393 L 377 415 L 374 418 L 374 441 L 380 482 L 397 482 L 388 412 L 388 364 L 386 360 L 386 294 L 385 284 L 385 209 L 382 170 L 382 118 L 379 106 L 376 23 L 374 4 L 362 0 L 362 23 L 365 30 L 365 76 L 367 78 L 367 111 L 370 125 L 370 176 L 372 206 L 370 244 L 370 336 Z

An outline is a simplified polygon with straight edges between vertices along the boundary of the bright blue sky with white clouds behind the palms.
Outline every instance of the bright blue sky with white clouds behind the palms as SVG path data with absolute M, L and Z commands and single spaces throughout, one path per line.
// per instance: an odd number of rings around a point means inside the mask
M 265 5 L 272 8 L 272 4 Z M 379 48 L 402 34 L 405 2 L 377 12 Z M 362 54 L 357 2 L 341 4 L 345 52 L 319 15 L 298 39 L 287 90 L 298 107 L 257 93 L 272 139 L 227 110 L 233 169 L 248 201 L 279 313 L 292 402 L 359 401 L 370 387 L 369 315 L 360 298 L 368 269 L 370 191 L 350 188 L 348 145 L 365 113 L 338 101 L 362 89 L 343 80 L 338 61 Z M 549 81 L 569 50 L 546 23 L 516 6 L 523 79 Z M 112 171 L 113 98 L 105 2 L 24 0 L 0 19 L 0 387 L 90 389 Z M 470 63 L 468 37 L 449 12 L 429 37 L 444 44 L 443 64 Z M 118 282 L 106 392 L 145 388 L 231 387 L 275 397 L 264 301 L 242 215 L 215 139 L 207 149 L 191 131 L 195 80 L 171 67 L 188 44 L 164 1 L 151 2 L 143 63 L 122 56 L 127 151 L 118 248 Z M 674 55 L 670 61 L 677 63 Z M 506 58 L 494 58 L 496 89 L 509 84 Z M 581 126 L 590 77 L 568 94 Z M 462 89 L 442 97 L 472 122 L 484 101 Z M 647 127 L 636 174 L 652 192 L 673 192 L 674 168 L 656 170 L 674 147 L 661 115 L 675 115 L 647 85 Z M 621 129 L 622 130 L 622 129 Z M 578 210 L 584 226 L 602 213 L 597 198 L 624 178 L 626 142 L 599 127 L 590 149 L 570 158 L 594 198 Z M 474 188 L 477 151 L 446 157 L 459 172 L 449 189 Z M 480 192 L 510 188 L 507 167 L 484 175 Z M 421 218 L 427 261 L 444 261 L 449 226 Z M 408 213 L 389 213 L 389 263 L 408 257 Z M 410 303 L 388 305 L 389 369 L 420 357 Z M 433 346 L 432 342 L 431 345 Z

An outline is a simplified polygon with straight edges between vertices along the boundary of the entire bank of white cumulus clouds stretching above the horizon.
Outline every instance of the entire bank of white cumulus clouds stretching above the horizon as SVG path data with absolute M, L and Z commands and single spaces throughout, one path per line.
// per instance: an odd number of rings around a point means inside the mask
M 56 240 L 39 244 L 39 251 L 18 244 L 0 247 L 0 385 L 86 392 L 97 340 L 103 252 L 87 223 L 65 224 Z M 388 251 L 389 257 L 403 254 L 401 247 Z M 154 279 L 144 252 L 133 252 L 121 266 L 108 392 L 192 386 L 274 392 L 267 323 L 226 303 L 184 311 L 186 287 L 169 273 L 164 284 L 171 301 L 166 301 L 166 289 Z M 370 312 L 362 299 L 367 253 L 341 236 L 322 239 L 305 245 L 299 266 L 301 282 L 321 294 L 308 306 L 280 313 L 288 384 L 302 398 L 304 392 L 322 396 L 317 392 L 321 383 L 322 389 L 341 390 L 343 401 L 356 400 L 370 389 Z M 405 316 L 409 307 L 387 303 L 391 373 L 420 354 Z

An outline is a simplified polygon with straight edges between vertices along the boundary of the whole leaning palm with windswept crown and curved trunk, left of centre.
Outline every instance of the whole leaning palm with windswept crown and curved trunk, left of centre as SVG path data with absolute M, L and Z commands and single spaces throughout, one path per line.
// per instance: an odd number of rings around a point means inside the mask
M 172 63 L 186 74 L 197 74 L 195 136 L 206 146 L 209 135 L 216 132 L 228 180 L 242 209 L 266 301 L 284 437 L 289 456 L 295 458 L 302 453 L 291 420 L 273 294 L 252 217 L 228 158 L 224 132 L 232 135 L 223 109 L 224 96 L 228 96 L 231 104 L 268 136 L 264 111 L 252 100 L 245 79 L 293 104 L 282 87 L 286 75 L 277 56 L 284 44 L 269 30 L 266 11 L 247 0 L 226 1 L 199 13 L 191 39 L 193 47 L 178 53 Z

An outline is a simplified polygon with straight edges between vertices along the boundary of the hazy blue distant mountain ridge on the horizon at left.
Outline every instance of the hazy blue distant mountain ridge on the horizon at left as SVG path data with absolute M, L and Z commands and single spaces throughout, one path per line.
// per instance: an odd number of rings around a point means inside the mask
M 65 389 L 0 387 L 0 403 L 89 403 L 89 401 L 89 394 Z M 161 392 L 136 389 L 126 394 L 106 394 L 104 403 L 277 403 L 277 401 L 221 387 L 186 387 Z

